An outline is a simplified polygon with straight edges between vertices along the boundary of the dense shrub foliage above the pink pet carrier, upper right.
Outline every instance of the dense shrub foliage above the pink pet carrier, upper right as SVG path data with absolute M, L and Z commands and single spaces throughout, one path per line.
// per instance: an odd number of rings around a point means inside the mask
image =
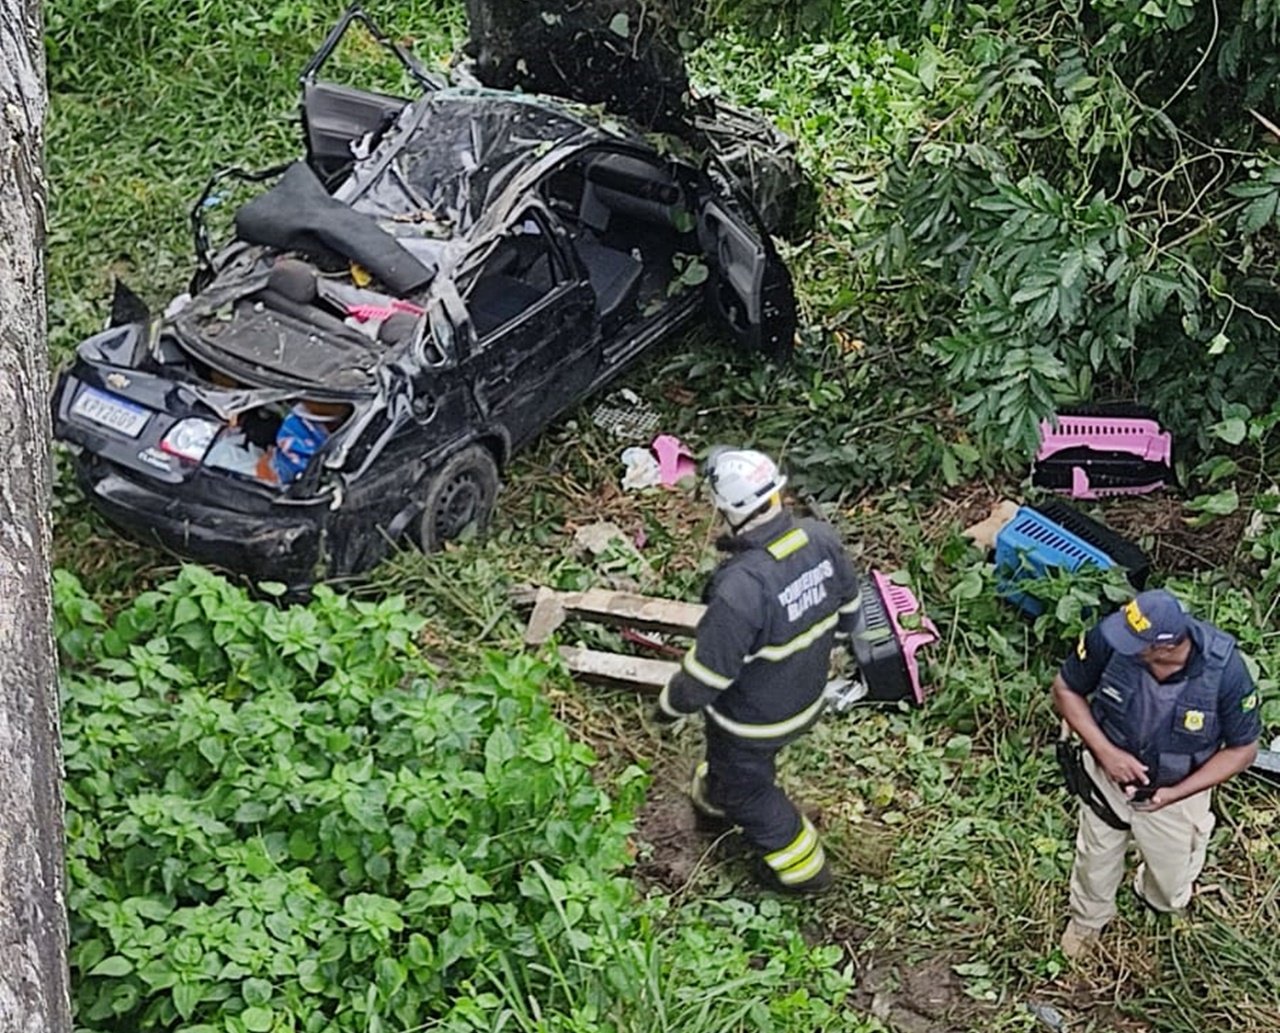
M 909 343 L 987 454 L 1020 458 L 1065 401 L 1140 397 L 1201 444 L 1226 406 L 1270 410 L 1275 0 L 719 13 L 739 35 L 708 79 L 772 109 L 824 186 L 813 301 Z

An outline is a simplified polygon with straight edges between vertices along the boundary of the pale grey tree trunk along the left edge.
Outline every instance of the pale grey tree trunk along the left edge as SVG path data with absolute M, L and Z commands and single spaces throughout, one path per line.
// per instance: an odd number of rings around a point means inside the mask
M 49 579 L 45 64 L 0 0 L 0 1030 L 68 1033 L 61 751 Z

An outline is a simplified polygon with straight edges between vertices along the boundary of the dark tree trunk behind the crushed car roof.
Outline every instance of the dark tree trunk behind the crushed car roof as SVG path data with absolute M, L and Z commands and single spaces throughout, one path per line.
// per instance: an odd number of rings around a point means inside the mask
M 694 0 L 467 0 L 476 77 L 500 90 L 603 104 L 646 128 L 689 129 Z

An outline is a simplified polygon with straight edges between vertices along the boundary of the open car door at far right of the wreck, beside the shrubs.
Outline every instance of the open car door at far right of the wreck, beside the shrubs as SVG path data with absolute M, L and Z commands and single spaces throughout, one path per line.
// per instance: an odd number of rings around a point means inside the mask
M 796 298 L 791 271 L 749 204 L 709 196 L 698 216 L 707 255 L 712 319 L 742 348 L 773 360 L 791 355 Z

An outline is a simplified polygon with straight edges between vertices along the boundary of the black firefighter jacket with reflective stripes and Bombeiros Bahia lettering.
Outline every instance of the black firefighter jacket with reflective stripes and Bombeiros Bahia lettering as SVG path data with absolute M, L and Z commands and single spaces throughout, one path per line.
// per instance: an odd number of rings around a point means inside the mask
M 858 575 L 831 527 L 786 511 L 728 548 L 658 705 L 669 717 L 705 709 L 744 744 L 777 748 L 822 713 L 832 640 L 858 613 Z

